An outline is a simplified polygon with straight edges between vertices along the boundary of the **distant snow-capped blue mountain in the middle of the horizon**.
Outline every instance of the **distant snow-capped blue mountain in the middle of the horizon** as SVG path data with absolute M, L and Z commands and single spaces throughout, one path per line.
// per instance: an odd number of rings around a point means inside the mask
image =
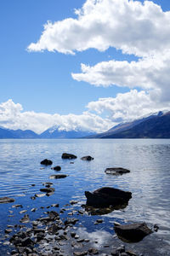
M 43 131 L 42 134 L 40 134 L 40 138 L 80 138 L 88 137 L 92 134 L 94 134 L 94 132 L 91 131 L 60 131 L 58 126 L 53 126 L 48 130 Z

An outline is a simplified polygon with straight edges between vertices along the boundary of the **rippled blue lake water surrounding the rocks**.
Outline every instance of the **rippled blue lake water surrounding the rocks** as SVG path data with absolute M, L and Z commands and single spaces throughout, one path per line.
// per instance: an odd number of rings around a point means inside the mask
M 77 155 L 77 160 L 62 160 L 62 153 Z M 90 154 L 93 161 L 80 160 Z M 136 244 L 126 244 L 144 255 L 170 255 L 170 140 L 151 139 L 116 139 L 116 140 L 0 140 L 0 197 L 10 196 L 15 199 L 12 204 L 0 204 L 0 252 L 8 251 L 8 237 L 4 229 L 8 224 L 19 224 L 27 210 L 31 220 L 43 215 L 40 207 L 48 207 L 59 203 L 59 208 L 71 200 L 78 204 L 65 207 L 62 215 L 65 218 L 72 209 L 82 209 L 85 204 L 85 190 L 94 191 L 102 186 L 111 186 L 131 191 L 132 199 L 124 210 L 117 210 L 100 216 L 90 216 L 86 212 L 79 216 L 77 228 L 91 239 L 99 239 L 99 245 L 113 239 L 113 223 L 122 224 L 134 221 L 145 221 L 150 227 L 158 224 L 158 232 L 147 236 Z M 54 166 L 61 166 L 59 173 L 68 177 L 49 180 L 56 174 L 51 168 L 40 165 L 40 161 L 48 158 Z M 71 161 L 74 164 L 71 164 Z M 122 176 L 105 174 L 105 168 L 121 166 L 131 170 Z M 54 183 L 54 195 L 44 196 L 32 201 L 31 196 L 41 193 L 42 183 Z M 35 184 L 35 186 L 31 186 Z M 14 204 L 22 204 L 22 209 L 12 208 Z M 31 208 L 37 207 L 37 212 Z M 10 212 L 12 211 L 12 212 Z M 103 218 L 103 224 L 94 225 L 97 218 Z M 121 243 L 114 238 L 113 243 Z M 5 243 L 5 244 L 3 244 Z M 1 254 L 1 253 L 0 253 Z

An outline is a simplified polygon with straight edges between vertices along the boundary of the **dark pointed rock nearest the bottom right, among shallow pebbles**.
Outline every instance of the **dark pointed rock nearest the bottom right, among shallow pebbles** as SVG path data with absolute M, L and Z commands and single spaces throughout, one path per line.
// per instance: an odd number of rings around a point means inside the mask
M 137 242 L 141 241 L 144 236 L 150 235 L 153 231 L 150 230 L 145 223 L 134 224 L 115 224 L 114 229 L 117 236 L 122 241 Z

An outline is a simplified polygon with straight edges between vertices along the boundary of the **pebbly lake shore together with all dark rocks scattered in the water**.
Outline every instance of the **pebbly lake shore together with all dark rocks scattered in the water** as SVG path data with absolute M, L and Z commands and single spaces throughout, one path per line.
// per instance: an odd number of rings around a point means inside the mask
M 62 159 L 64 160 L 75 160 L 77 156 L 74 154 L 62 154 Z M 84 156 L 82 160 L 94 160 L 91 156 Z M 72 164 L 73 162 L 71 162 Z M 52 166 L 53 162 L 51 160 L 42 160 L 41 164 L 44 166 Z M 55 166 L 50 168 L 56 172 L 61 170 L 60 166 Z M 113 170 L 110 168 L 109 171 Z M 118 171 L 122 168 L 118 168 Z M 124 169 L 123 169 L 124 170 Z M 115 169 L 114 169 L 115 172 Z M 130 172 L 130 171 L 129 171 Z M 127 173 L 127 172 L 124 172 Z M 59 173 L 52 174 L 49 179 L 66 178 L 68 175 Z M 35 184 L 31 185 L 32 187 Z M 41 193 L 42 192 L 42 193 Z M 94 192 L 84 191 L 87 197 L 86 205 L 77 207 L 74 210 L 73 206 L 77 205 L 78 201 L 68 201 L 65 207 L 59 207 L 58 202 L 54 201 L 54 204 L 47 207 L 31 208 L 31 218 L 27 209 L 23 209 L 23 206 L 15 201 L 12 205 L 13 209 L 17 209 L 23 214 L 20 218 L 20 223 L 10 225 L 4 230 L 6 241 L 3 242 L 4 246 L 8 246 L 7 255 L 14 256 L 66 256 L 66 255 L 103 255 L 103 256 L 142 256 L 141 253 L 136 253 L 135 250 L 130 250 L 127 246 L 123 244 L 123 239 L 131 242 L 138 237 L 138 241 L 142 240 L 144 236 L 150 235 L 152 230 L 150 230 L 146 224 L 128 224 L 120 225 L 115 224 L 117 237 L 120 239 L 120 244 L 114 244 L 113 241 L 106 243 L 104 246 L 99 246 L 99 241 L 92 241 L 86 232 L 78 231 L 80 217 L 84 214 L 88 214 L 89 218 L 92 215 L 103 215 L 108 212 L 112 212 L 116 209 L 127 207 L 128 201 L 132 197 L 132 193 L 128 191 L 123 191 L 121 189 L 114 188 L 99 188 Z M 37 191 L 35 195 L 31 195 L 30 200 L 36 200 L 38 197 L 54 195 L 54 183 L 46 181 L 42 184 L 40 191 Z M 3 197 L 0 198 L 0 203 L 14 203 L 13 198 Z M 68 209 L 70 209 L 68 211 Z M 41 210 L 41 211 L 40 211 Z M 43 213 L 42 213 L 43 210 Z M 33 212 L 36 212 L 36 216 L 39 213 L 39 217 L 32 219 Z M 13 211 L 11 211 L 13 213 Z M 103 223 L 103 218 L 97 218 L 95 225 L 100 225 Z M 158 226 L 155 226 L 155 230 L 158 230 Z M 116 236 L 116 235 L 114 235 Z

